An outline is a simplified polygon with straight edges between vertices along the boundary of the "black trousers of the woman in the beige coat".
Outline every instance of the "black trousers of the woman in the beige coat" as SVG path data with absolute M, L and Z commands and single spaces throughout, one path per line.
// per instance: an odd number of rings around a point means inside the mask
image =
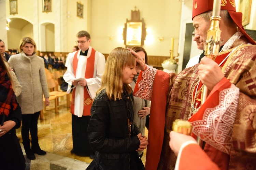
M 31 141 L 38 144 L 38 130 L 37 130 L 37 121 L 39 118 L 40 112 L 34 114 L 22 115 L 22 140 L 23 144 L 29 144 L 29 131 L 31 135 Z

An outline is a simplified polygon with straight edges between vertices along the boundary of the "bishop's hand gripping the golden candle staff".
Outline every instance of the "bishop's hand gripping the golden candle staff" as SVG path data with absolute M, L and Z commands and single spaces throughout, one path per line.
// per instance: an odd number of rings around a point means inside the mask
M 210 90 L 224 78 L 218 64 L 207 57 L 201 59 L 198 66 L 198 74 L 200 81 Z

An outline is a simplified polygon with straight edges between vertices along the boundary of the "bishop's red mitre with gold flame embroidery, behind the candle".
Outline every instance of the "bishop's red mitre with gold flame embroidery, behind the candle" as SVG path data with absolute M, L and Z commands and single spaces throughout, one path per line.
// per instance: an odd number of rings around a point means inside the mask
M 192 20 L 195 16 L 207 11 L 212 11 L 213 0 L 193 0 Z M 236 4 L 234 0 L 222 0 L 221 10 L 228 10 L 230 17 L 236 23 L 238 30 L 241 31 L 248 39 L 249 43 L 256 45 L 256 42 L 245 32 L 242 25 L 242 13 L 236 12 Z

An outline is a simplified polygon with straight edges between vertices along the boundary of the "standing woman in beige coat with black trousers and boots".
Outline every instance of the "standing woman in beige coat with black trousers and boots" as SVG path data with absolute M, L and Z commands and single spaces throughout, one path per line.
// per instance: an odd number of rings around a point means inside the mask
M 45 155 L 38 144 L 37 121 L 43 109 L 43 95 L 45 106 L 50 104 L 49 92 L 46 82 L 44 60 L 36 55 L 37 46 L 32 38 L 25 37 L 20 40 L 19 54 L 12 55 L 8 61 L 16 77 L 22 85 L 22 92 L 17 101 L 22 109 L 22 139 L 26 155 L 35 159 L 34 153 Z M 31 148 L 29 140 L 31 135 Z

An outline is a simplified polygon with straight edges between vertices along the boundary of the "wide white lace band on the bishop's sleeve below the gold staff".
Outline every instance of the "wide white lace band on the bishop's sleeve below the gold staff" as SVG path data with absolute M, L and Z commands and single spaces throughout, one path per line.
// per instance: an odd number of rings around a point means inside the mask
M 229 154 L 238 99 L 239 88 L 234 84 L 221 91 L 219 105 L 206 109 L 202 120 L 192 122 L 193 133 L 214 148 Z

